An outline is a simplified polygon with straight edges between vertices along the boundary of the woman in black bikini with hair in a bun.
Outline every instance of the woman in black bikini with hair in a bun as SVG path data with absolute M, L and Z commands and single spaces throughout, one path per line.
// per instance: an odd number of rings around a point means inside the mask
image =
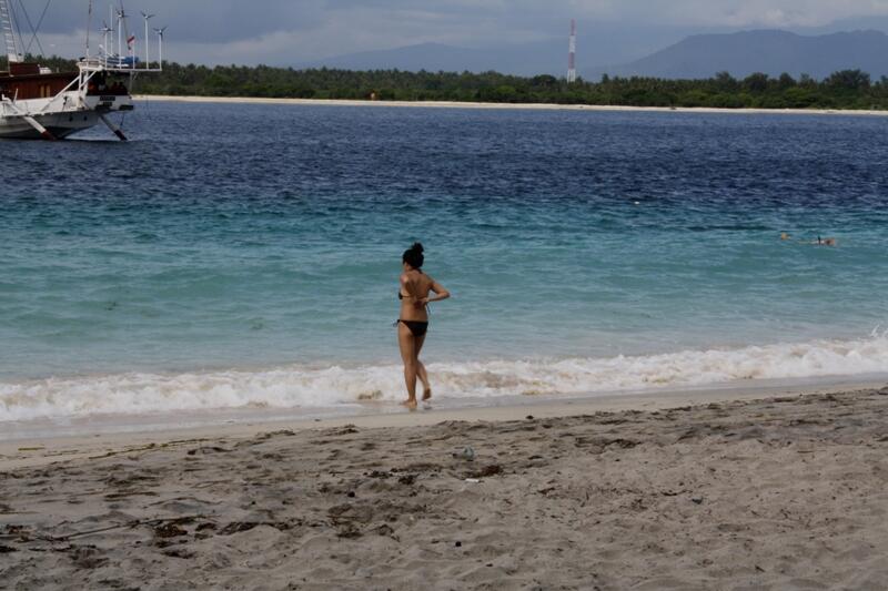
M 404 272 L 401 274 L 401 287 L 397 292 L 397 298 L 401 300 L 397 344 L 401 346 L 404 380 L 407 384 L 407 399 L 403 405 L 411 409 L 416 408 L 416 378 L 423 383 L 423 400 L 432 398 L 428 374 L 420 361 L 420 351 L 425 343 L 425 333 L 428 330 L 427 305 L 451 296 L 443 285 L 422 272 L 423 262 L 423 245 L 418 242 L 404 252 L 402 257 Z M 431 293 L 435 295 L 430 297 Z

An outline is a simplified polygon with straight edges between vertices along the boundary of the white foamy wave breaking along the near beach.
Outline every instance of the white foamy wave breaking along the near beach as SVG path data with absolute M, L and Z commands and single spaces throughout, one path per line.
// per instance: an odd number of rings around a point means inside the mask
M 888 373 L 888 336 L 647 356 L 430 364 L 437 396 L 578 395 L 738 380 Z M 231 408 L 329 407 L 404 398 L 401 367 L 287 366 L 0 384 L 0 421 Z

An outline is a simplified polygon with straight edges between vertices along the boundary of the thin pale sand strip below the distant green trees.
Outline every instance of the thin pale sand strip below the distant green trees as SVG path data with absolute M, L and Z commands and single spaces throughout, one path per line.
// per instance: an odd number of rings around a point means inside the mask
M 303 106 L 376 106 L 413 109 L 480 109 L 517 111 L 589 111 L 589 112 L 638 112 L 638 113 L 702 113 L 740 115 L 845 115 L 845 116 L 888 116 L 888 110 L 841 110 L 841 109 L 720 109 L 712 106 L 624 106 L 591 104 L 553 103 L 483 103 L 461 101 L 370 101 L 346 99 L 265 99 L 238 96 L 173 96 L 162 94 L 137 94 L 134 101 L 179 102 L 179 103 L 228 103 L 228 104 L 289 104 Z

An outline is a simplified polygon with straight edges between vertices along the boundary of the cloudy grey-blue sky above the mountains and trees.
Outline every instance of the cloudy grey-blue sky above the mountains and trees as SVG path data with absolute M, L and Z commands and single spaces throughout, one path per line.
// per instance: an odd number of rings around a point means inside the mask
M 21 1 L 36 23 L 47 0 Z M 109 3 L 93 3 L 93 48 Z M 134 16 L 130 29 L 140 37 L 140 10 L 157 13 L 152 26 L 169 26 L 167 58 L 208 64 L 299 64 L 422 42 L 482 48 L 542 41 L 565 37 L 571 18 L 579 22 L 581 39 L 584 31 L 618 31 L 627 53 L 660 49 L 648 48 L 649 39 L 659 43 L 673 34 L 678 41 L 695 31 L 888 22 L 874 20 L 888 18 L 888 0 L 124 0 L 124 6 Z M 87 7 L 88 0 L 50 2 L 40 35 L 46 53 L 83 53 Z M 28 31 L 27 22 L 21 28 Z

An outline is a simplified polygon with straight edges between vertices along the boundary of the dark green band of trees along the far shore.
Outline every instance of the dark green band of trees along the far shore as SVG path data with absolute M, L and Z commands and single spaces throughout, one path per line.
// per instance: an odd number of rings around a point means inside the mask
M 75 70 L 72 60 L 49 58 L 43 65 Z M 0 60 L 0 69 L 4 68 Z M 598 81 L 497 72 L 406 72 L 336 69 L 163 64 L 164 72 L 138 79 L 134 92 L 171 96 L 453 101 L 483 103 L 588 104 L 722 109 L 888 110 L 888 78 L 872 81 L 861 70 L 841 70 L 823 80 L 754 73 L 736 79 L 666 80 L 608 77 Z

